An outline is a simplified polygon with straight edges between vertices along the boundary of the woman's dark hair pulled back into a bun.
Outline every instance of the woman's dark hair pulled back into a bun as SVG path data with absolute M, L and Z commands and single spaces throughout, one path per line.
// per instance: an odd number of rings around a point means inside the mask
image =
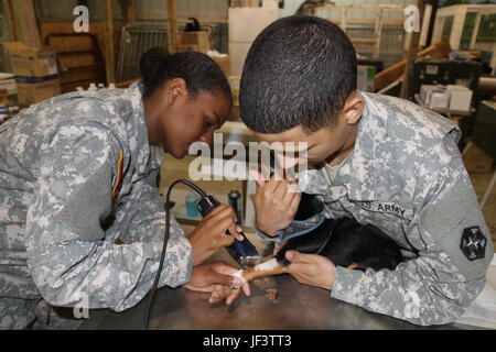
M 153 47 L 141 55 L 140 72 L 144 97 L 153 95 L 168 80 L 183 78 L 192 96 L 220 90 L 233 103 L 229 81 L 208 55 L 197 52 L 170 55 L 164 47 Z

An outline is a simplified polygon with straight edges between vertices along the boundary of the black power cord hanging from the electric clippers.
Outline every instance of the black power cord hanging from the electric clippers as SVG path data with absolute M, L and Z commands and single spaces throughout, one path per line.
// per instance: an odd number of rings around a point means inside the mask
M 192 182 L 188 182 L 187 179 L 176 179 L 175 182 L 172 183 L 172 185 L 168 189 L 168 194 L 165 196 L 165 233 L 163 237 L 163 245 L 162 245 L 162 253 L 160 254 L 159 268 L 155 274 L 155 279 L 153 282 L 153 286 L 150 290 L 150 296 L 149 296 L 148 304 L 147 304 L 147 310 L 144 312 L 144 330 L 148 330 L 148 326 L 150 322 L 150 311 L 151 311 L 151 308 L 153 307 L 153 301 L 155 299 L 157 288 L 159 286 L 160 275 L 162 274 L 163 262 L 165 260 L 165 252 L 166 252 L 166 248 L 168 248 L 169 235 L 171 232 L 171 229 L 170 229 L 171 228 L 171 207 L 169 207 L 168 205 L 171 200 L 172 188 L 177 184 L 183 184 L 183 185 L 186 185 L 186 186 L 193 188 L 193 190 L 196 191 L 198 194 L 198 196 L 202 198 L 207 197 L 207 195 L 202 190 L 202 188 L 200 188 Z

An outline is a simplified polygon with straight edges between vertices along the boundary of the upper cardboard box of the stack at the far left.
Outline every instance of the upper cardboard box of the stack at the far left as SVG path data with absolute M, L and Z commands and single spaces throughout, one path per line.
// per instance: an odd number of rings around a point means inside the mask
M 15 76 L 45 77 L 58 73 L 55 52 L 46 48 L 29 47 L 21 42 L 2 43 L 10 56 L 10 65 Z

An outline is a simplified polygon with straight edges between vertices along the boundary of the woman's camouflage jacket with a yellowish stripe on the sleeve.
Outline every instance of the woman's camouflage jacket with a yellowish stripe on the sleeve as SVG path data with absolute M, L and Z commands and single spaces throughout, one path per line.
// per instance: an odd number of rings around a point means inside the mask
M 30 323 L 41 298 L 121 311 L 151 288 L 163 152 L 149 145 L 141 89 L 63 95 L 0 127 L 0 329 Z M 160 285 L 175 287 L 193 255 L 172 223 Z

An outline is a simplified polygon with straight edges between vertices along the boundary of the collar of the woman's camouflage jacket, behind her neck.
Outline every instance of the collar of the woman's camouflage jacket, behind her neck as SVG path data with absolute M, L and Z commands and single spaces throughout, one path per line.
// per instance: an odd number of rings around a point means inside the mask
M 150 143 L 148 140 L 148 128 L 143 106 L 143 85 L 133 82 L 129 88 L 129 101 L 131 103 L 131 119 L 127 121 L 129 146 L 134 157 L 137 177 L 147 175 L 150 163 L 153 163 Z

